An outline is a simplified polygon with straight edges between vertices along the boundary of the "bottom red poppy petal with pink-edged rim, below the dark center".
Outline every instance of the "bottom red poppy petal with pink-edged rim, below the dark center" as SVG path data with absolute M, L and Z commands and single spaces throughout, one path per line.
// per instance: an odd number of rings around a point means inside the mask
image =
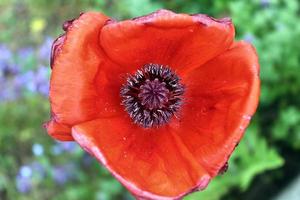
M 126 117 L 103 118 L 76 125 L 72 135 L 141 199 L 179 199 L 204 189 L 210 180 L 166 127 L 143 129 Z

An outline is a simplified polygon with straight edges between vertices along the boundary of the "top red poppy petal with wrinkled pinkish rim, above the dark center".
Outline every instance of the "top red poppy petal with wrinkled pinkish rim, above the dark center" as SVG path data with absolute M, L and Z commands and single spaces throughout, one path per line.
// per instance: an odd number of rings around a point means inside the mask
M 230 47 L 230 20 L 159 10 L 121 22 L 109 21 L 100 43 L 108 57 L 135 71 L 147 63 L 169 65 L 180 74 L 192 70 Z

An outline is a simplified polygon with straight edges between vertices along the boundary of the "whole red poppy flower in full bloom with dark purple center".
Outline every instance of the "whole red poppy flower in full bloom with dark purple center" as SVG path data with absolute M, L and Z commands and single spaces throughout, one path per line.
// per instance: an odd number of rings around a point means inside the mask
M 48 133 L 75 140 L 133 195 L 180 199 L 226 168 L 259 97 L 230 19 L 88 12 L 53 44 Z

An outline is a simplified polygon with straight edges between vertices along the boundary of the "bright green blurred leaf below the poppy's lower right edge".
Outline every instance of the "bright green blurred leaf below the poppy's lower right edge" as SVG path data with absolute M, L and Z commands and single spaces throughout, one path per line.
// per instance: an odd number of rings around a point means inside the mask
M 186 199 L 218 200 L 231 188 L 244 191 L 257 174 L 276 169 L 283 163 L 274 147 L 267 145 L 266 139 L 259 135 L 258 127 L 252 125 L 229 160 L 228 171 L 212 180 L 204 191 Z

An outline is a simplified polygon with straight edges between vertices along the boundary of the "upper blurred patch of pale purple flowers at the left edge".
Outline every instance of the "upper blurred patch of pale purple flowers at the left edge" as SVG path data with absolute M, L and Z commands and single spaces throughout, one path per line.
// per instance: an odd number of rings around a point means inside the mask
M 33 47 L 21 48 L 13 54 L 7 45 L 0 44 L 0 102 L 16 100 L 26 92 L 48 96 L 49 68 L 39 65 L 37 69 L 28 70 L 26 66 L 31 63 L 25 62 L 25 66 L 24 61 L 35 58 L 34 55 L 49 57 L 51 43 L 52 39 L 47 37 L 38 49 L 38 54 Z M 20 66 L 16 64 L 15 58 L 20 61 Z

